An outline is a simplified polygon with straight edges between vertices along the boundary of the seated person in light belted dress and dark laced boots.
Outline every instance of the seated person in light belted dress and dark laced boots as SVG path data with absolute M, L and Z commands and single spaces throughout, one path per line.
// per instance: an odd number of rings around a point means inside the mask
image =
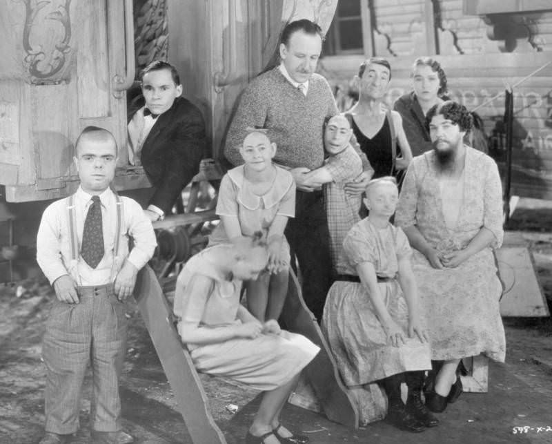
M 402 229 L 389 222 L 397 200 L 394 177 L 368 182 L 364 204 L 370 214 L 343 242 L 340 274 L 328 292 L 322 331 L 345 385 L 371 390 L 371 383 L 380 383 L 388 399 L 386 421 L 422 432 L 438 423 L 420 397 L 431 355 L 418 309 L 412 251 Z

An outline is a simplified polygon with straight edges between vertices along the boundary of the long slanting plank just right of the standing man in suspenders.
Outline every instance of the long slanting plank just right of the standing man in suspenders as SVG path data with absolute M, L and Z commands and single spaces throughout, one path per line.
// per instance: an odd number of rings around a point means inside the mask
M 172 324 L 172 312 L 148 265 L 139 272 L 135 299 L 161 360 L 179 412 L 194 444 L 226 443 L 208 407 L 208 398 L 188 351 Z

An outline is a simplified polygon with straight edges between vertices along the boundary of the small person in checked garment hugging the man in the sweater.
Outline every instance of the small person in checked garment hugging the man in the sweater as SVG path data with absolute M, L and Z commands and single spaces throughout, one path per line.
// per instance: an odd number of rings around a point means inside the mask
M 328 218 L 332 269 L 337 270 L 337 260 L 343 240 L 351 227 L 360 220 L 362 195 L 349 195 L 344 186 L 362 173 L 362 160 L 350 143 L 353 130 L 344 115 L 331 117 L 324 126 L 324 149 L 328 158 L 320 168 L 306 173 L 306 181 L 324 184 L 324 209 Z M 367 169 L 368 177 L 373 170 Z

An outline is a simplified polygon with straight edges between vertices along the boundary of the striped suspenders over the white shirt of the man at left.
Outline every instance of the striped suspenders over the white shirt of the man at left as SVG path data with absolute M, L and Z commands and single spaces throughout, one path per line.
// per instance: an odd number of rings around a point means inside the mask
M 110 281 L 115 278 L 115 272 L 121 263 L 119 250 L 121 243 L 121 226 L 124 226 L 124 208 L 121 197 L 115 193 L 115 206 L 117 207 L 117 218 L 115 218 L 115 241 L 113 242 L 113 263 L 111 265 Z M 79 249 L 79 237 L 77 235 L 77 211 L 75 211 L 75 195 L 67 198 L 67 218 L 69 225 L 69 237 L 71 242 L 69 274 L 80 284 L 79 273 L 77 273 L 77 263 L 81 255 Z

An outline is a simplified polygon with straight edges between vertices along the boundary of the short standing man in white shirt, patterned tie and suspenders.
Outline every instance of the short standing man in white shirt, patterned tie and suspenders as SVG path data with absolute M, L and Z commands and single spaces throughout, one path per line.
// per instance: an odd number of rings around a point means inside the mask
M 48 206 L 37 238 L 37 261 L 57 296 L 43 339 L 46 434 L 40 444 L 67 443 L 77 432 L 89 362 L 92 443 L 130 443 L 132 436 L 121 431 L 118 383 L 126 351 L 124 300 L 157 242 L 141 206 L 110 189 L 117 144 L 109 131 L 85 128 L 74 160 L 79 189 Z

